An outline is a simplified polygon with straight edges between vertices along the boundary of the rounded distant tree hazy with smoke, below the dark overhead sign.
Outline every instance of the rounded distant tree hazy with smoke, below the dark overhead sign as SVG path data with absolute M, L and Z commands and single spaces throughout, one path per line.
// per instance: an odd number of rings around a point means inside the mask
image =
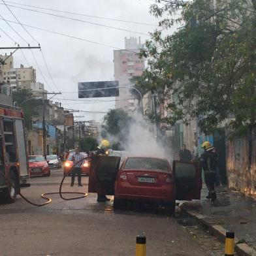
M 112 109 L 104 116 L 103 138 L 108 138 L 115 150 L 125 149 L 132 118 L 121 109 Z

